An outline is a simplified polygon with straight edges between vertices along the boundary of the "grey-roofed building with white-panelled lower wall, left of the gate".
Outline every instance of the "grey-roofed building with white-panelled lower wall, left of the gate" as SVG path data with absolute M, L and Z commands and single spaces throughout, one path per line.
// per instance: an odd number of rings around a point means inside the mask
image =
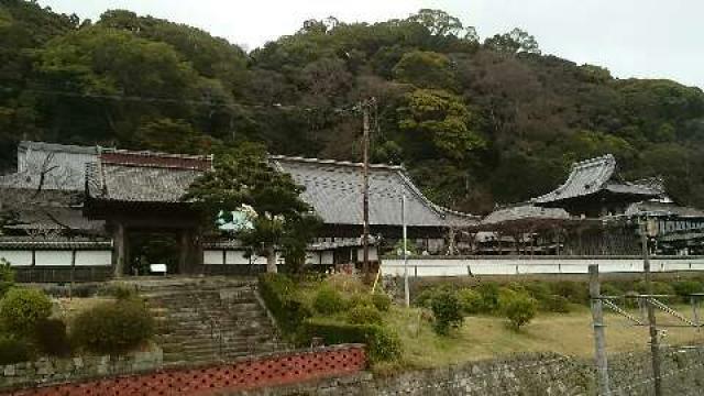
M 0 258 L 18 267 L 19 280 L 112 275 L 105 223 L 82 215 L 85 168 L 97 153 L 98 147 L 20 143 L 16 173 L 0 176 Z

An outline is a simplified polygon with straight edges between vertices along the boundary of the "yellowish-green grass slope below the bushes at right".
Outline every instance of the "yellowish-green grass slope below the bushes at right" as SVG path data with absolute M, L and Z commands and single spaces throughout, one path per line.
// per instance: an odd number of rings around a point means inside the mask
M 678 309 L 691 316 L 688 306 Z M 520 352 L 556 352 L 590 358 L 594 353 L 592 318 L 588 308 L 575 306 L 570 314 L 539 314 L 519 332 L 509 330 L 503 318 L 468 317 L 464 324 L 448 338 L 435 334 L 430 323 L 421 318 L 421 310 L 394 307 L 387 323 L 395 328 L 404 344 L 403 365 L 433 367 L 466 361 L 495 359 Z M 662 323 L 674 319 L 658 315 Z M 606 344 L 609 352 L 645 350 L 648 329 L 630 326 L 626 319 L 606 315 Z M 686 344 L 704 341 L 704 332 L 695 329 L 668 329 L 666 344 Z

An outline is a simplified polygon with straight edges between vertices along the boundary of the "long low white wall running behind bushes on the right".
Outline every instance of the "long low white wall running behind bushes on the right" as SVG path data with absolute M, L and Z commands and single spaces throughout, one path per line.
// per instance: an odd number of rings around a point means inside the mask
M 410 276 L 526 275 L 526 274 L 587 274 L 588 266 L 597 264 L 602 273 L 642 272 L 642 260 L 636 257 L 449 257 L 409 258 Z M 704 257 L 652 257 L 652 272 L 704 271 Z M 402 258 L 382 262 L 384 275 L 403 275 Z

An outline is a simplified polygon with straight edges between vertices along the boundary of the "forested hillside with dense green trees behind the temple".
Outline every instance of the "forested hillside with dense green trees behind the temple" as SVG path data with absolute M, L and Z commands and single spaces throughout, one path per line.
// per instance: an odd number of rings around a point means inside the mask
M 541 54 L 520 30 L 480 37 L 422 10 L 376 24 L 308 21 L 246 53 L 130 11 L 91 22 L 0 4 L 0 167 L 21 139 L 168 152 L 257 141 L 358 160 L 352 108 L 374 96 L 374 161 L 403 163 L 439 204 L 485 212 L 551 190 L 575 160 L 613 153 L 625 178 L 661 175 L 678 201 L 704 207 L 701 89 L 615 79 Z

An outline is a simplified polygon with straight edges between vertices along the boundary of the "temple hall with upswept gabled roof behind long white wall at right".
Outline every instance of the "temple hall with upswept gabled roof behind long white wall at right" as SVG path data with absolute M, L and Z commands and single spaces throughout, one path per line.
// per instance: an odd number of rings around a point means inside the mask
M 652 254 L 704 254 L 704 212 L 672 202 L 658 178 L 622 180 L 605 155 L 573 164 L 553 191 L 499 207 L 464 234 L 472 254 L 638 255 L 645 221 Z

